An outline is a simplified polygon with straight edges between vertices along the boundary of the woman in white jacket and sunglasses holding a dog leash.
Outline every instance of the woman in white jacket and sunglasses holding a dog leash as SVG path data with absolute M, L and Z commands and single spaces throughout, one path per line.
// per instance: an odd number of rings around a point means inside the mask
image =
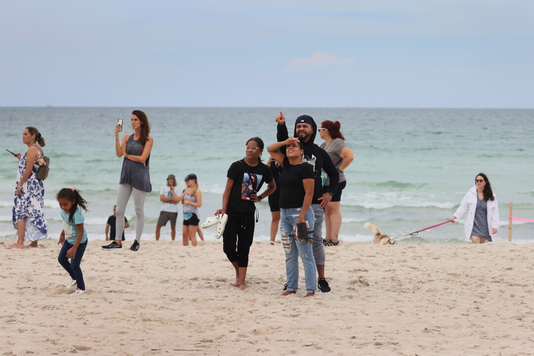
M 469 189 L 464 196 L 460 207 L 454 212 L 452 222 L 464 216 L 464 231 L 467 241 L 472 243 L 484 243 L 492 241 L 499 227 L 499 207 L 497 198 L 491 190 L 490 181 L 484 173 L 478 173 L 475 178 L 475 186 Z M 491 227 L 491 234 L 490 234 Z

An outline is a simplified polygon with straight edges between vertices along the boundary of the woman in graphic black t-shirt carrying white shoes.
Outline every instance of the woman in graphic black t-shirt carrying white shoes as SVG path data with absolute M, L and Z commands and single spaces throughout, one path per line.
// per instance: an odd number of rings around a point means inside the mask
M 228 169 L 223 208 L 215 212 L 216 216 L 228 215 L 223 232 L 223 251 L 235 268 L 234 286 L 241 290 L 245 289 L 248 252 L 254 238 L 254 203 L 261 202 L 276 189 L 271 170 L 261 162 L 263 146 L 259 137 L 247 141 L 247 156 L 232 163 Z M 268 184 L 267 189 L 257 194 L 264 182 Z

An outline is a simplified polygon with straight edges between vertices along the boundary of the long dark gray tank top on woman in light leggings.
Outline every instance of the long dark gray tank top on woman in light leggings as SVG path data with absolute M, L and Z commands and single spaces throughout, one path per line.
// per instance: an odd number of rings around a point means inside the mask
M 126 141 L 126 153 L 132 156 L 140 156 L 144 146 L 140 141 L 133 139 L 130 135 Z M 143 192 L 152 192 L 152 184 L 150 183 L 149 165 L 150 155 L 146 159 L 145 164 L 140 162 L 133 162 L 126 157 L 122 161 L 122 171 L 120 184 L 129 184 L 133 188 Z

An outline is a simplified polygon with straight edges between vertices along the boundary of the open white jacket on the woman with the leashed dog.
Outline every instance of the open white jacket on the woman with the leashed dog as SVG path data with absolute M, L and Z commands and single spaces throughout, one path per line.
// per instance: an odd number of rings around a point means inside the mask
M 476 199 L 477 199 L 476 185 L 469 189 L 464 199 L 460 203 L 458 209 L 454 212 L 453 216 L 461 218 L 467 211 L 464 232 L 466 234 L 467 241 L 471 240 L 471 232 L 473 231 L 473 223 L 475 221 Z M 493 194 L 493 200 L 488 200 L 488 230 L 490 231 L 491 240 L 495 241 L 496 234 L 492 234 L 492 228 L 499 228 L 499 206 L 497 204 L 497 198 Z

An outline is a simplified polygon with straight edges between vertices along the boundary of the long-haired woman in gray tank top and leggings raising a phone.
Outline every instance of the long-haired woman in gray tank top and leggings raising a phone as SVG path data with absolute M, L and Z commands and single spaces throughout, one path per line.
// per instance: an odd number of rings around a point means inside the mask
M 141 241 L 141 235 L 145 227 L 145 194 L 152 191 L 148 163 L 154 139 L 148 136 L 151 126 L 148 122 L 148 117 L 141 110 L 133 110 L 131 125 L 133 135 L 125 134 L 122 137 L 122 141 L 119 141 L 119 132 L 122 131 L 122 125 L 117 124 L 115 126 L 115 152 L 117 157 L 124 156 L 119 190 L 117 191 L 115 235 L 121 236 L 124 231 L 124 211 L 128 200 L 130 200 L 130 195 L 133 194 L 137 223 L 136 239 L 133 241 L 130 250 L 138 251 L 139 241 Z M 122 241 L 115 239 L 115 241 L 102 248 L 105 250 L 120 249 L 122 248 Z

